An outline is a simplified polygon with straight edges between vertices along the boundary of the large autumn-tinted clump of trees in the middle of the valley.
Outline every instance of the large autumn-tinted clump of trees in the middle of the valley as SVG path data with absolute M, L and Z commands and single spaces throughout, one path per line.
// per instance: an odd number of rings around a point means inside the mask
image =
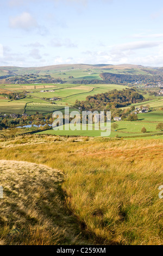
M 108 93 L 87 96 L 85 101 L 76 100 L 74 107 L 82 111 L 106 111 L 129 106 L 131 103 L 143 101 L 143 96 L 136 89 L 112 90 Z

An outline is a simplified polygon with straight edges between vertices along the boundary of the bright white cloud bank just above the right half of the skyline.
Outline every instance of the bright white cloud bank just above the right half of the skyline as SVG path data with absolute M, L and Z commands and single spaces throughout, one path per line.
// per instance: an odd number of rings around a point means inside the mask
M 152 54 L 137 54 L 142 48 L 156 47 Z M 136 51 L 135 51 L 136 50 Z M 163 66 L 163 42 L 136 42 L 109 47 L 108 51 L 85 51 L 78 63 L 89 64 L 141 64 L 146 66 Z

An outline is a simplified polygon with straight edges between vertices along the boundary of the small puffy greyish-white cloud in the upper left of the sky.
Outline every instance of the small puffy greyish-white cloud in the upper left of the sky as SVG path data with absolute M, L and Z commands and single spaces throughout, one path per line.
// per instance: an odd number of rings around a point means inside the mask
M 11 28 L 21 28 L 25 31 L 29 31 L 34 27 L 38 27 L 34 17 L 32 17 L 32 15 L 27 12 L 24 12 L 16 17 L 10 17 L 9 25 Z

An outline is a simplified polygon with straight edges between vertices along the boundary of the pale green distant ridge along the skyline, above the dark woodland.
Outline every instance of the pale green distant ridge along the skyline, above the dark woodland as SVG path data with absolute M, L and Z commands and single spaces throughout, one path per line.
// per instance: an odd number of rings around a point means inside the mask
M 130 75 L 162 75 L 163 68 L 147 67 L 134 64 L 59 64 L 38 67 L 0 66 L 0 83 L 14 76 L 35 74 L 39 76 L 51 75 L 62 81 L 102 80 L 101 74 L 109 72 L 113 74 Z M 4 81 L 3 81 L 4 80 Z M 9 82 L 9 80 L 8 80 Z

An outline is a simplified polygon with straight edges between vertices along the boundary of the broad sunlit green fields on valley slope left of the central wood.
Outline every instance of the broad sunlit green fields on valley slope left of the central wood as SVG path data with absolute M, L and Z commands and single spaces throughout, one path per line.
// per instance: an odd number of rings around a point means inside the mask
M 38 88 L 39 87 L 39 88 Z M 9 101 L 7 99 L 0 99 L 0 113 L 11 114 L 26 113 L 34 114 L 36 111 L 42 114 L 52 113 L 56 109 L 64 108 L 67 104 L 71 107 L 74 102 L 78 100 L 85 100 L 88 95 L 95 95 L 98 93 L 105 93 L 112 89 L 122 90 L 126 87 L 118 86 L 117 84 L 2 84 L 0 86 L 0 93 L 12 92 L 33 92 L 27 94 L 24 99 Z M 40 90 L 55 90 L 55 92 L 43 92 Z M 54 101 L 55 105 L 51 105 L 50 101 L 47 102 L 42 98 L 59 97 L 60 101 Z M 59 106 L 58 106 L 59 105 Z

